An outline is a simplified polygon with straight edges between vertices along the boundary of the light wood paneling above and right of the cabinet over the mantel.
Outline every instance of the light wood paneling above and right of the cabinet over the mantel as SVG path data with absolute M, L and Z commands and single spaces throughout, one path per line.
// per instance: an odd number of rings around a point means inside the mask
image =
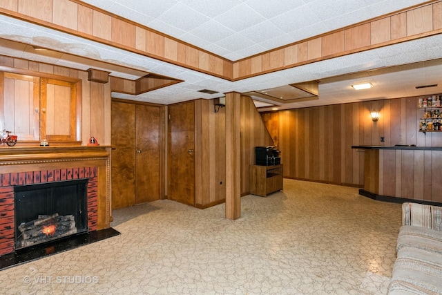
M 81 116 L 77 120 L 81 124 L 82 144 L 86 145 L 91 136 L 102 145 L 111 144 L 111 88 L 110 84 L 102 84 L 88 81 L 88 72 L 54 66 L 51 64 L 28 61 L 13 57 L 0 56 L 0 66 L 2 70 L 19 70 L 28 75 L 54 75 L 54 77 L 70 77 L 81 79 L 81 87 L 77 89 L 77 103 L 81 104 Z M 20 138 L 19 138 L 20 140 Z

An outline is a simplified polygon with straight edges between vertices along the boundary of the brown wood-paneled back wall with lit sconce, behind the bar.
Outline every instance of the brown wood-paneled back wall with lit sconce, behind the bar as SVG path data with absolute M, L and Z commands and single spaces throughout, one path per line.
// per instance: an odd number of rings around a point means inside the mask
M 419 132 L 423 111 L 417 108 L 417 99 L 405 97 L 298 108 L 262 113 L 262 118 L 282 151 L 286 178 L 362 186 L 364 151 L 352 146 L 442 145 L 442 133 Z M 378 122 L 373 122 L 369 115 L 373 108 L 380 112 Z M 381 142 L 381 136 L 385 142 Z M 385 173 L 395 169 L 394 159 L 396 157 L 384 157 Z M 390 196 L 390 192 L 386 195 Z

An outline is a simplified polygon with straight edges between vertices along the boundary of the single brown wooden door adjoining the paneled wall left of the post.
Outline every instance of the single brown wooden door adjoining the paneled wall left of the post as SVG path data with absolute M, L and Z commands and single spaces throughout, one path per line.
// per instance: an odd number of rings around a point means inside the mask
M 195 205 L 194 102 L 169 106 L 168 198 Z

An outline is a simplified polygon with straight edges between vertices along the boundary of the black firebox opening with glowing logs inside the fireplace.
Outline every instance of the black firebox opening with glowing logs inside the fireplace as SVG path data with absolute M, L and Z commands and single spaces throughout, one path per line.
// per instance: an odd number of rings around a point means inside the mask
M 14 187 L 15 249 L 88 231 L 88 179 Z

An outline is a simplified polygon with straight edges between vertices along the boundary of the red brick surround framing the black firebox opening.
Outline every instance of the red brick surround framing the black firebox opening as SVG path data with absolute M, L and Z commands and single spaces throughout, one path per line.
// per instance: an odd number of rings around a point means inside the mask
M 0 256 L 15 251 L 14 186 L 88 179 L 88 231 L 97 230 L 98 168 L 83 167 L 0 174 Z

